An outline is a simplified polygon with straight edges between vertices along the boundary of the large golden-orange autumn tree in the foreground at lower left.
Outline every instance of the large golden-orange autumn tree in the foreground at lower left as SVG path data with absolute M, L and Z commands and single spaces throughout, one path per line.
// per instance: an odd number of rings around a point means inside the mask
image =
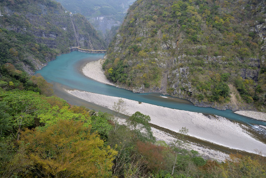
M 26 130 L 20 147 L 33 164 L 28 177 L 111 177 L 116 151 L 81 121 L 59 120 L 48 128 Z M 19 164 L 19 163 L 18 163 Z M 23 174 L 23 173 L 21 173 Z

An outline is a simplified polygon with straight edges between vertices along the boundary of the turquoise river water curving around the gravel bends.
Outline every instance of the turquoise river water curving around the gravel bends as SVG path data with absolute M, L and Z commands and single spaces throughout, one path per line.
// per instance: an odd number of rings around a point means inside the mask
M 126 89 L 119 89 L 114 86 L 99 83 L 85 77 L 81 73 L 81 65 L 84 65 L 89 61 L 95 61 L 103 58 L 103 56 L 103 54 L 88 54 L 73 51 L 71 53 L 58 56 L 54 61 L 49 62 L 47 66 L 37 71 L 36 74 L 41 74 L 47 82 L 58 83 L 63 86 L 67 86 L 70 89 L 123 97 L 173 109 L 222 116 L 231 121 L 250 125 L 261 134 L 266 134 L 265 129 L 257 126 L 266 126 L 266 122 L 235 114 L 231 110 L 222 111 L 211 107 L 197 107 L 187 100 L 178 99 L 169 95 L 162 95 L 160 93 L 133 93 L 132 91 Z

